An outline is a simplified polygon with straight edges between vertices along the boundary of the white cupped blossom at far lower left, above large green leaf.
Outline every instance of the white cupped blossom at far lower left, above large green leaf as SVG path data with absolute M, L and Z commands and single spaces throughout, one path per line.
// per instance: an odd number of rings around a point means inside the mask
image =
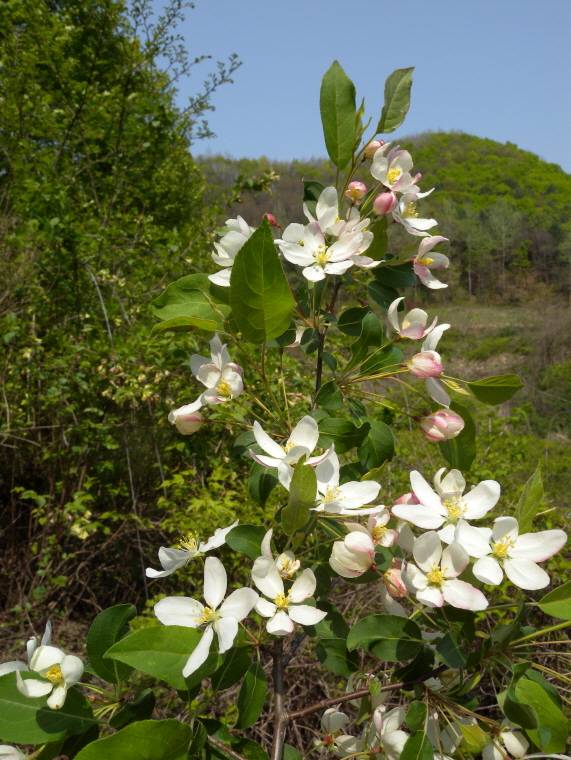
M 23 679 L 16 671 L 18 691 L 25 697 L 48 696 L 48 707 L 59 710 L 63 707 L 68 689 L 78 683 L 83 675 L 83 663 L 72 654 L 65 654 L 58 647 L 40 645 L 32 655 L 29 670 L 37 673 L 37 678 Z

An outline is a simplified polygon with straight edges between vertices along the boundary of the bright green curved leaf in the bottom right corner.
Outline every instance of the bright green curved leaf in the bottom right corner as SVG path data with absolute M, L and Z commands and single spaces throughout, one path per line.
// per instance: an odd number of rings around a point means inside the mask
M 545 689 L 529 678 L 520 678 L 515 697 L 535 715 L 537 728 L 526 729 L 533 743 L 543 752 L 565 752 L 569 722 Z

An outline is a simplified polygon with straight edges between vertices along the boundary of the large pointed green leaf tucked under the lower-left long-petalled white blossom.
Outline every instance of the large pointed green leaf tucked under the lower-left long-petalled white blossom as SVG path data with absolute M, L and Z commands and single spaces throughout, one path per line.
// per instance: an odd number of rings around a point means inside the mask
M 202 637 L 202 631 L 179 625 L 140 628 L 118 641 L 105 657 L 124 662 L 142 673 L 186 689 L 182 669 Z

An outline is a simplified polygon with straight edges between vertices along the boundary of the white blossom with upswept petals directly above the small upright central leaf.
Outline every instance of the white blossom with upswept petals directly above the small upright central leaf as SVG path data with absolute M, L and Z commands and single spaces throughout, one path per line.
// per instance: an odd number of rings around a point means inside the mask
M 320 462 L 327 455 L 326 452 L 318 457 L 310 457 L 310 454 L 317 446 L 319 428 L 317 427 L 317 422 L 308 414 L 297 423 L 283 446 L 276 443 L 273 438 L 270 438 L 257 420 L 254 422 L 252 430 L 256 443 L 265 454 L 258 454 L 251 449 L 249 453 L 255 462 L 264 467 L 278 468 L 280 464 L 285 464 L 288 468 L 291 468 L 303 456 L 308 457 L 307 464 L 313 465 Z

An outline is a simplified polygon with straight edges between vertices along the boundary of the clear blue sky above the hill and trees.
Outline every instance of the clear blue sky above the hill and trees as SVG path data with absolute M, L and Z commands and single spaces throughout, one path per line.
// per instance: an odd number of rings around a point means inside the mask
M 180 30 L 191 53 L 236 52 L 243 65 L 215 95 L 217 137 L 196 149 L 324 155 L 319 84 L 338 58 L 374 117 L 387 74 L 416 67 L 399 134 L 462 130 L 571 171 L 570 30 L 571 0 L 197 0 Z

